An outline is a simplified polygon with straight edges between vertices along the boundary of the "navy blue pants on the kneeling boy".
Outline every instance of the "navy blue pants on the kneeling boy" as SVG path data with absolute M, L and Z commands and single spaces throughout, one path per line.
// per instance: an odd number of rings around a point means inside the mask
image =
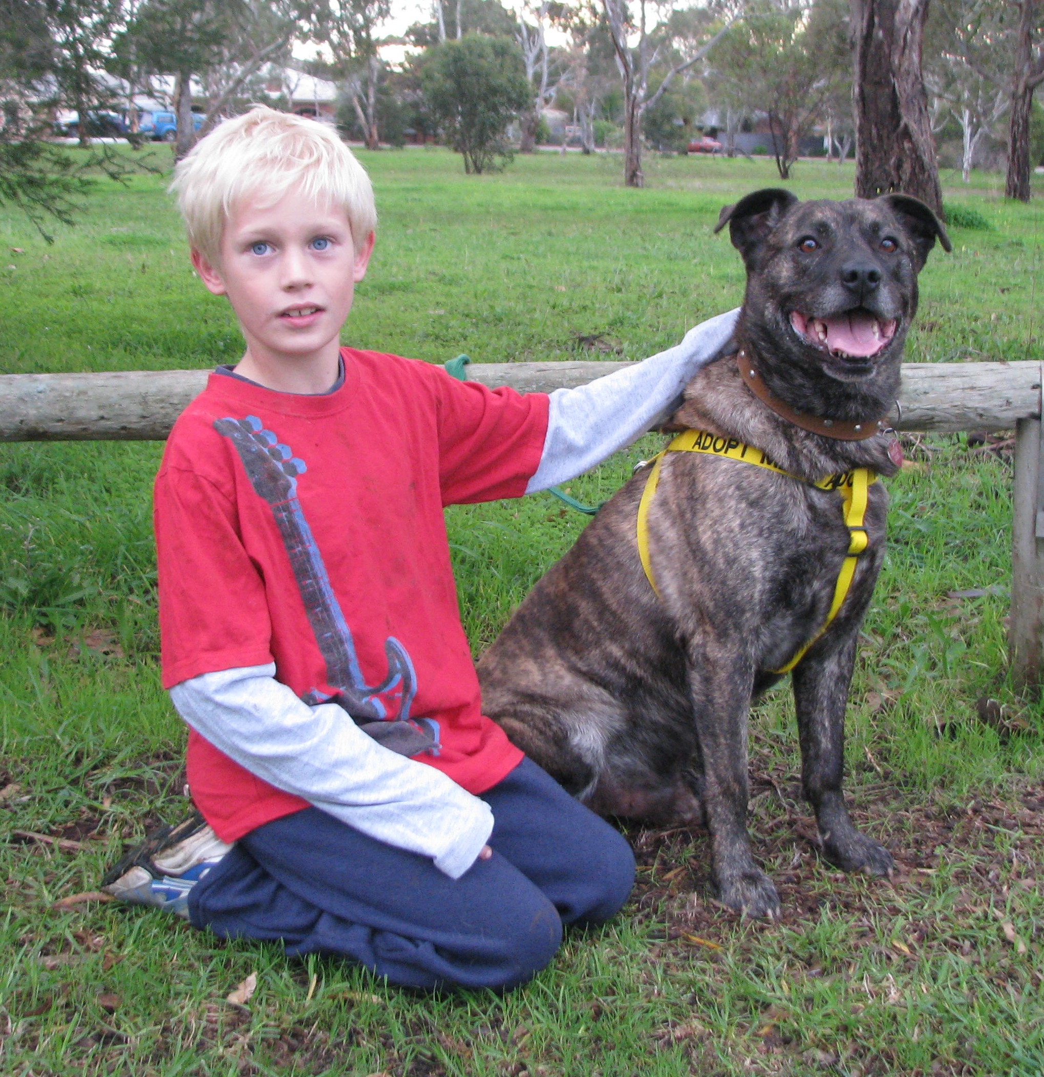
M 562 924 L 600 924 L 635 881 L 630 847 L 524 759 L 483 799 L 493 855 L 459 879 L 307 808 L 257 827 L 190 894 L 196 927 L 358 961 L 392 983 L 524 983 Z

